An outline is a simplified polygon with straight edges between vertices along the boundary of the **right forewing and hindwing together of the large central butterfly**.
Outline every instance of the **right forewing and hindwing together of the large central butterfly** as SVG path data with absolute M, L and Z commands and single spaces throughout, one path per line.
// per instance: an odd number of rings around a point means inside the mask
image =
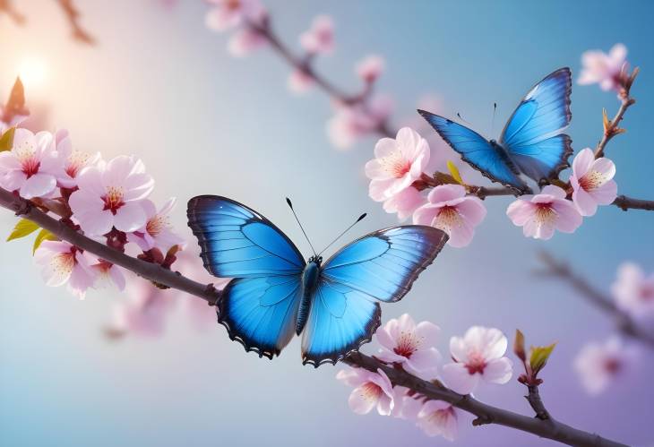
M 409 225 L 375 231 L 325 262 L 302 339 L 303 363 L 336 363 L 370 341 L 377 301 L 404 297 L 447 241 L 443 231 Z

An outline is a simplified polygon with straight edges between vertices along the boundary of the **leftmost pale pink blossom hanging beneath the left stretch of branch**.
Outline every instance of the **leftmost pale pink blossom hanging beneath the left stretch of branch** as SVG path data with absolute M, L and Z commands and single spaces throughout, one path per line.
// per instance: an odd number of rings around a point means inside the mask
M 42 266 L 42 275 L 50 287 L 68 284 L 73 295 L 84 299 L 95 282 L 87 254 L 64 241 L 43 241 L 34 256 Z

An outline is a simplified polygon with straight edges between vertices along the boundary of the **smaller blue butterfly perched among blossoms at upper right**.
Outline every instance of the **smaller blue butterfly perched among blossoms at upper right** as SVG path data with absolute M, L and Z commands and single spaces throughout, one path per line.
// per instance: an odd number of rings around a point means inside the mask
M 443 116 L 425 110 L 417 112 L 470 166 L 518 193 L 530 193 L 520 174 L 542 184 L 569 166 L 572 140 L 563 132 L 572 118 L 571 86 L 567 67 L 547 75 L 522 99 L 504 126 L 499 142 L 488 141 Z

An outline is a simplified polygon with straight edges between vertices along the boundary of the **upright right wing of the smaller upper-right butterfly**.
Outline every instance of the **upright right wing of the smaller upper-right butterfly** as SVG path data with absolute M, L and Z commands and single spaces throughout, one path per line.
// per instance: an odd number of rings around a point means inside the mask
M 558 176 L 572 154 L 570 125 L 572 76 L 565 67 L 538 82 L 504 127 L 500 144 L 523 174 L 539 182 Z

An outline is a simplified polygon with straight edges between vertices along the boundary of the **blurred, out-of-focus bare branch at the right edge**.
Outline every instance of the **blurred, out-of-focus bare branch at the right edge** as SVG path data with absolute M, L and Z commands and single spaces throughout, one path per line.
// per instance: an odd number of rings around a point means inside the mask
M 612 317 L 618 330 L 624 335 L 640 340 L 650 348 L 654 348 L 654 336 L 647 331 L 643 331 L 629 314 L 626 314 L 615 305 L 610 297 L 593 288 L 586 279 L 572 271 L 568 264 L 556 260 L 547 252 L 541 252 L 538 257 L 546 265 L 549 274 L 567 282 L 574 290 L 579 292 L 581 297 L 584 297 L 590 304 Z

